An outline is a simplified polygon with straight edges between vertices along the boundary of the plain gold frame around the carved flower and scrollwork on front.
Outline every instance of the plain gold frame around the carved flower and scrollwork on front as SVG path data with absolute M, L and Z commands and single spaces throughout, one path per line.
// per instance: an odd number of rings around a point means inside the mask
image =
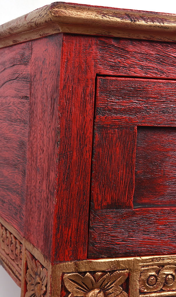
M 62 274 L 90 271 L 115 271 L 128 269 L 130 271 L 129 292 L 130 297 L 159 297 L 176 296 L 176 292 L 154 292 L 139 295 L 139 278 L 143 266 L 176 265 L 176 255 L 119 257 L 88 259 L 81 261 L 54 264 L 52 267 L 51 296 L 60 296 Z

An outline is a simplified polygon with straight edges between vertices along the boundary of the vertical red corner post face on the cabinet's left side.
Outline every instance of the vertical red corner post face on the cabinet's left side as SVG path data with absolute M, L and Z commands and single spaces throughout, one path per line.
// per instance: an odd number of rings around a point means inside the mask
M 32 42 L 25 236 L 51 257 L 62 34 Z

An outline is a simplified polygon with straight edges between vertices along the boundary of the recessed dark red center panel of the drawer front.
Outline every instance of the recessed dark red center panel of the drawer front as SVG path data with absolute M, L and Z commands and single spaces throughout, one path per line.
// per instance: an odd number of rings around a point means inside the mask
M 133 205 L 176 205 L 176 128 L 138 127 Z

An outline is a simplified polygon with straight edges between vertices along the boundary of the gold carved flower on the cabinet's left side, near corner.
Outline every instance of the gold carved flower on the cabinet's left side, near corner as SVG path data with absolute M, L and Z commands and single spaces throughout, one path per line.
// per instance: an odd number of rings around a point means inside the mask
M 27 292 L 25 297 L 43 297 L 47 290 L 47 270 L 26 251 L 28 270 L 26 273 Z

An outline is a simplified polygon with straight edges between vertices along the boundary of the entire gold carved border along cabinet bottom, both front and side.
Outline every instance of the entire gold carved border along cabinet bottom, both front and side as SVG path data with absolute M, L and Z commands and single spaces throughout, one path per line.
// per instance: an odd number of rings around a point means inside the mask
M 89 259 L 51 266 L 0 220 L 0 261 L 21 287 L 22 297 L 176 296 L 176 255 Z

